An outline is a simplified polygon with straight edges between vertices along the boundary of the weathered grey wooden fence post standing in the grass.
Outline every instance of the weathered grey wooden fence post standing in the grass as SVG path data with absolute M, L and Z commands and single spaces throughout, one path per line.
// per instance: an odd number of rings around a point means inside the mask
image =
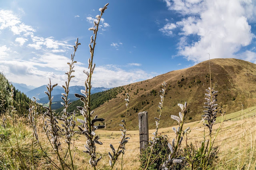
M 139 117 L 139 132 L 140 132 L 140 154 L 142 149 L 148 146 L 148 112 L 138 113 Z

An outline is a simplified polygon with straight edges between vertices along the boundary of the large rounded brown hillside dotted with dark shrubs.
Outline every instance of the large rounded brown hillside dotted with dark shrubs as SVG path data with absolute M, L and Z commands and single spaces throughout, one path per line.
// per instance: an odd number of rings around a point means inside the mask
M 218 104 L 226 113 L 255 106 L 256 103 L 256 64 L 239 59 L 211 59 L 212 83 L 218 93 Z M 149 128 L 155 128 L 154 117 L 158 117 L 159 90 L 162 82 L 167 83 L 166 97 L 160 127 L 176 124 L 170 115 L 178 115 L 178 103 L 188 102 L 189 113 L 186 122 L 201 119 L 205 89 L 210 86 L 209 62 L 204 61 L 193 67 L 171 71 L 152 79 L 124 85 L 124 91 L 116 98 L 104 103 L 94 111 L 106 120 L 108 130 L 118 130 L 125 115 L 124 93 L 130 94 L 128 129 L 138 129 L 138 113 L 148 111 Z

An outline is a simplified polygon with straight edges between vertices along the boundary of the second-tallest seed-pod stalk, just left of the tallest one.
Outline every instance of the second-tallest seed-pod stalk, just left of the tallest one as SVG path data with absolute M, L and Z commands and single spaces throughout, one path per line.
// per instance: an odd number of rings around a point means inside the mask
M 68 106 L 71 105 L 71 103 L 72 103 L 72 102 L 69 102 L 70 99 L 68 99 L 68 93 L 69 93 L 70 81 L 73 77 L 75 77 L 74 75 L 72 75 L 72 73 L 75 72 L 74 71 L 74 63 L 76 63 L 76 61 L 74 61 L 74 57 L 75 57 L 75 53 L 78 48 L 78 45 L 81 44 L 81 43 L 78 43 L 78 38 L 76 39 L 75 44 L 76 45 L 73 46 L 74 53 L 71 54 L 71 63 L 68 63 L 69 71 L 66 72 L 66 75 L 68 75 L 68 81 L 66 81 L 66 85 L 62 85 L 65 93 L 62 93 L 61 99 L 64 101 L 64 103 L 61 102 L 61 104 L 64 106 L 64 109 L 63 109 L 62 116 L 59 118 L 60 121 L 63 121 L 63 124 L 61 124 L 61 125 L 64 129 L 62 129 L 62 131 L 64 131 L 64 133 L 65 133 L 65 138 L 66 138 L 65 142 L 66 142 L 66 144 L 68 144 L 67 152 L 69 152 L 69 155 L 70 155 L 72 169 L 74 169 L 74 164 L 73 164 L 73 153 L 71 153 L 70 144 L 71 144 L 71 138 L 72 138 L 72 136 L 74 136 L 74 128 L 76 126 L 76 121 L 75 121 L 76 111 L 74 111 L 72 113 L 67 113 L 67 110 L 68 110 Z M 66 156 L 65 156 L 65 158 L 66 158 Z

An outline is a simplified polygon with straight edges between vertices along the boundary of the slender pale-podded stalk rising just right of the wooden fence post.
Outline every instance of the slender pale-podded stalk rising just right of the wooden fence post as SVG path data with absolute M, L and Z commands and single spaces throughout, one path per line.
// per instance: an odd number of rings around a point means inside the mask
M 154 149 L 154 145 L 156 144 L 157 140 L 159 140 L 159 138 L 157 137 L 157 134 L 158 134 L 158 128 L 159 128 L 159 125 L 160 125 L 160 120 L 161 120 L 161 115 L 162 115 L 162 110 L 163 110 L 163 105 L 164 105 L 164 96 L 165 96 L 165 90 L 166 90 L 166 83 L 164 82 L 162 84 L 163 86 L 163 89 L 160 90 L 160 98 L 161 98 L 161 102 L 159 102 L 159 109 L 160 109 L 160 115 L 159 115 L 159 118 L 156 118 L 156 131 L 153 133 L 154 137 L 152 137 L 152 141 L 149 141 L 152 145 L 151 145 L 151 151 L 150 151 L 150 154 L 148 156 L 148 163 L 147 163 L 147 166 L 145 168 L 148 169 L 148 166 L 149 166 L 149 162 L 150 162 L 150 158 L 151 158 L 151 154 L 152 154 L 152 151 Z

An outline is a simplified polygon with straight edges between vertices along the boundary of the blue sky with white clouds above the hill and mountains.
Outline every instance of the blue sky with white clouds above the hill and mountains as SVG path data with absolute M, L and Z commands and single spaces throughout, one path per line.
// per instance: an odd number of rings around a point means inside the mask
M 8 0 L 0 2 L 0 71 L 16 83 L 66 81 L 76 38 L 76 77 L 90 57 L 99 8 L 109 3 L 97 36 L 94 87 L 116 87 L 211 58 L 256 63 L 256 2 L 251 0 Z

